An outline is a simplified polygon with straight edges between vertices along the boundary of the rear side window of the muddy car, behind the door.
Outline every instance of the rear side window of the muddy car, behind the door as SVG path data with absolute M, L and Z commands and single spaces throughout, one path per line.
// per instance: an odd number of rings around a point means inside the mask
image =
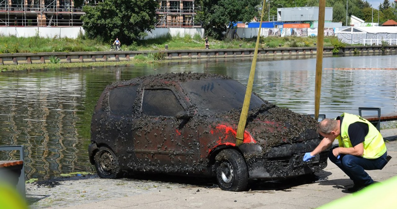
M 123 86 L 110 90 L 109 107 L 116 115 L 131 115 L 132 106 L 137 98 L 138 86 Z

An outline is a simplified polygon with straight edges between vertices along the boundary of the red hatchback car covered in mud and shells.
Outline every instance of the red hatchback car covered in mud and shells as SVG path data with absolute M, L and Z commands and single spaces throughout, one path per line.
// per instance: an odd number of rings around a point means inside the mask
M 246 87 L 222 75 L 168 73 L 110 84 L 95 107 L 89 158 L 101 178 L 123 173 L 215 177 L 222 190 L 242 191 L 250 179 L 311 174 L 320 142 L 317 121 L 251 96 L 243 144 L 236 129 Z

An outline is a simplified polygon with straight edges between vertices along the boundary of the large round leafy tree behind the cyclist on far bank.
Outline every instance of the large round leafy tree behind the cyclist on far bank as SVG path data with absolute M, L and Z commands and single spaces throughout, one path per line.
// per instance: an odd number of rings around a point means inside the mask
M 84 6 L 81 20 L 90 38 L 105 42 L 119 38 L 122 44 L 131 44 L 154 28 L 158 5 L 154 0 L 105 0 Z

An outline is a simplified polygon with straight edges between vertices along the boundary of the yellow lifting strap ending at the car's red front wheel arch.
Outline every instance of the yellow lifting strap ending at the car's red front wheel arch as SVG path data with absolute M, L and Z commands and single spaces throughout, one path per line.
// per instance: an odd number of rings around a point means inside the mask
M 247 123 L 249 103 L 251 102 L 252 84 L 254 83 L 256 58 L 258 57 L 259 39 L 260 39 L 260 32 L 262 31 L 262 21 L 263 21 L 263 14 L 265 12 L 265 3 L 266 3 L 266 0 L 263 0 L 262 13 L 260 14 L 258 37 L 256 38 L 256 44 L 255 44 L 254 58 L 252 59 L 252 65 L 251 65 L 251 71 L 249 73 L 247 90 L 245 91 L 243 109 L 241 109 L 239 126 L 237 127 L 236 146 L 240 146 L 241 144 L 243 144 L 245 124 Z

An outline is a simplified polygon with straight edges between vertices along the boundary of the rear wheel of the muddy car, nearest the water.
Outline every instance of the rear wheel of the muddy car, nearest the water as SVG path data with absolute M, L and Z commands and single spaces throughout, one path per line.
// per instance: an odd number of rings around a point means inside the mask
M 116 154 L 107 147 L 100 147 L 95 154 L 95 169 L 101 178 L 120 178 L 121 169 Z

